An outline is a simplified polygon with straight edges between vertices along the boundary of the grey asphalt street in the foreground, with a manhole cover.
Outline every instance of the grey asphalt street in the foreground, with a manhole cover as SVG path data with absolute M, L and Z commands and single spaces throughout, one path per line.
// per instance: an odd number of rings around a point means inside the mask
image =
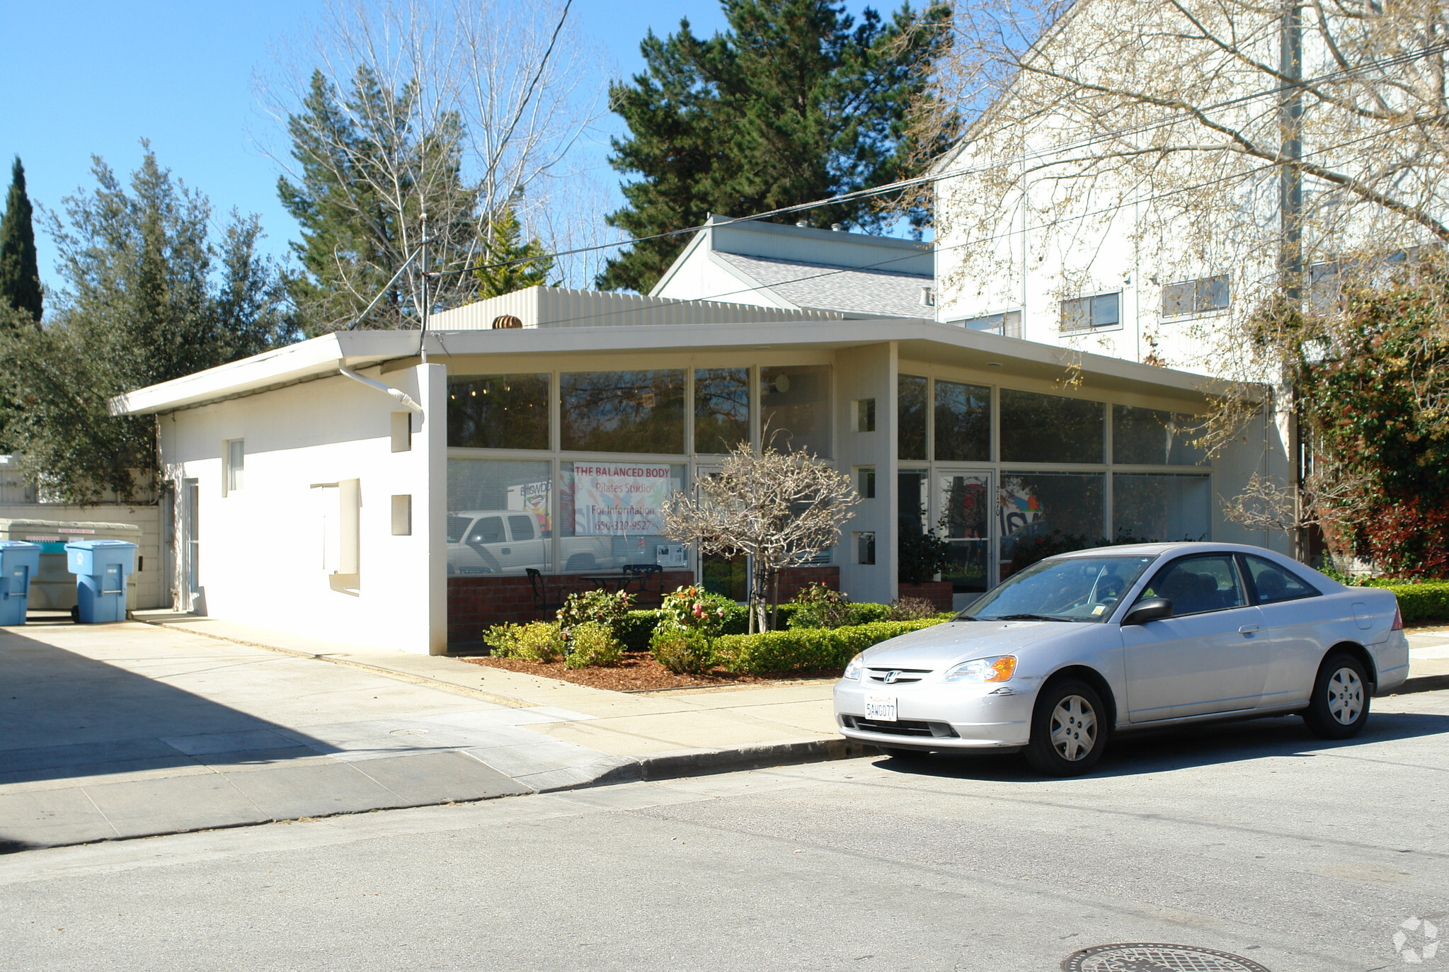
M 1084 779 L 872 758 L 25 850 L 0 968 L 1006 972 L 1113 942 L 1400 968 L 1401 923 L 1449 937 L 1446 742 L 1424 692 L 1350 743 L 1240 723 Z

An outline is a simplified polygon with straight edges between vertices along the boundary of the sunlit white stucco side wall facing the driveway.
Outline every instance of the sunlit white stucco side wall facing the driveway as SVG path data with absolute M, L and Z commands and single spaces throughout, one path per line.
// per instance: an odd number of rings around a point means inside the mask
M 177 495 L 184 501 L 185 479 L 200 487 L 194 607 L 320 639 L 440 653 L 445 368 L 364 374 L 423 406 L 410 451 L 393 452 L 398 403 L 341 375 L 161 417 L 162 462 Z M 245 440 L 245 472 L 241 490 L 223 491 L 229 439 Z M 359 481 L 359 563 L 355 574 L 333 574 L 323 565 L 322 487 L 345 479 Z M 393 535 L 393 495 L 412 497 L 410 536 Z

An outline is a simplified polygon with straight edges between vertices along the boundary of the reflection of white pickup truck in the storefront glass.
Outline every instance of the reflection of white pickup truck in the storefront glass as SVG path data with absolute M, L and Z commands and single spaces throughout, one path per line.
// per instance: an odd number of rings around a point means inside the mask
M 523 574 L 527 568 L 548 569 L 551 537 L 532 513 L 517 510 L 462 510 L 448 514 L 449 574 Z M 565 571 L 594 571 L 622 563 L 652 563 L 633 553 L 625 537 L 565 536 Z

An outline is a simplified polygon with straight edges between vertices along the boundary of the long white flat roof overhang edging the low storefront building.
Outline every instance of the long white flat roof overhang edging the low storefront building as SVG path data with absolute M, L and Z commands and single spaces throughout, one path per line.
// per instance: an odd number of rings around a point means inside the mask
M 509 330 L 430 332 L 430 358 L 564 355 L 590 352 L 839 351 L 897 342 L 900 356 L 1039 381 L 1069 380 L 1080 390 L 1120 390 L 1185 406 L 1226 391 L 1229 382 L 1071 348 L 900 317 L 745 324 L 607 324 Z M 258 394 L 338 374 L 338 365 L 371 368 L 420 361 L 417 332 L 338 332 L 199 371 L 110 400 L 112 414 L 158 414 Z M 385 368 L 384 371 L 391 371 Z

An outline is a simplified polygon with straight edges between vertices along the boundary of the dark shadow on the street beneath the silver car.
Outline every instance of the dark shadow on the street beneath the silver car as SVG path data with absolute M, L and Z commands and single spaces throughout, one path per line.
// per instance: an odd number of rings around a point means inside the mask
M 1449 714 L 1371 713 L 1364 732 L 1342 742 L 1319 739 L 1297 716 L 1142 730 L 1113 736 L 1101 762 L 1084 779 L 1161 774 L 1272 756 L 1314 756 L 1427 736 L 1449 736 Z M 1019 753 L 882 756 L 875 765 L 891 772 L 952 779 L 1064 782 L 1042 776 Z

